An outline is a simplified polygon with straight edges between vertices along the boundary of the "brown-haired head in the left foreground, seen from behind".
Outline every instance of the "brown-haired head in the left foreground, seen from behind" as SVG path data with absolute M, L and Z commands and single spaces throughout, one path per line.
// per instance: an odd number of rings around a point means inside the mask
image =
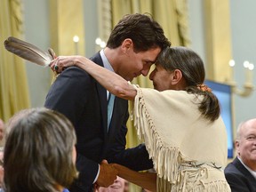
M 56 192 L 77 177 L 76 134 L 68 118 L 46 108 L 20 111 L 6 125 L 4 192 Z

